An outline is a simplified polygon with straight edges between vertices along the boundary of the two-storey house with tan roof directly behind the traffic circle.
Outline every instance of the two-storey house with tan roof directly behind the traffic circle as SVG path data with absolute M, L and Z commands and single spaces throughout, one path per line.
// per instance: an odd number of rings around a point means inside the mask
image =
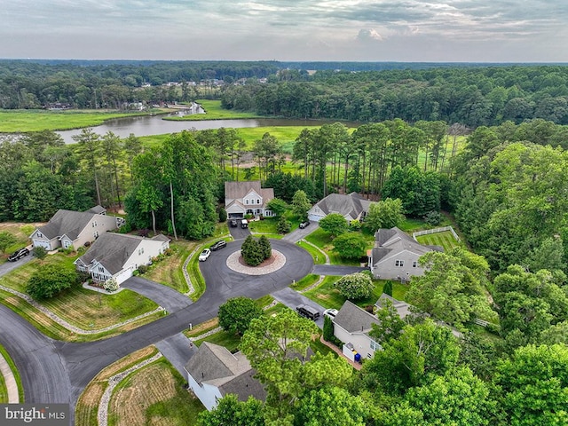
M 225 210 L 229 218 L 245 215 L 272 217 L 274 214 L 266 205 L 273 198 L 274 190 L 261 188 L 260 180 L 225 182 Z

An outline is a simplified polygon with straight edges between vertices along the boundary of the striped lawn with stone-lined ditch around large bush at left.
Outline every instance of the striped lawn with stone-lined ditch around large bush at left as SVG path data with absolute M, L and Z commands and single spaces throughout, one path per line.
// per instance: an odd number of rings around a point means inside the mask
M 66 341 L 90 341 L 118 335 L 163 316 L 153 301 L 128 289 L 108 295 L 80 286 L 37 302 L 25 294 L 40 264 L 73 268 L 75 257 L 63 254 L 33 259 L 0 279 L 0 302 L 32 322 L 45 335 Z

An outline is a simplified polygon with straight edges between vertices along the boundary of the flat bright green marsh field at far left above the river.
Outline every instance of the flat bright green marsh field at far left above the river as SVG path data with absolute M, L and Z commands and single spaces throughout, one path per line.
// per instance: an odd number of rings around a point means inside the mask
M 144 113 L 146 114 L 146 113 Z M 39 130 L 68 130 L 99 126 L 111 118 L 144 115 L 140 113 L 109 113 L 93 111 L 1 110 L 0 133 L 20 133 Z

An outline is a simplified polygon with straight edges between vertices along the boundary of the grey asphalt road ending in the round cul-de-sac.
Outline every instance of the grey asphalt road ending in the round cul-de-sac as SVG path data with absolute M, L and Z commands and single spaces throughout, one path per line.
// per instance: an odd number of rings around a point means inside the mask
M 241 248 L 242 241 L 230 242 L 226 248 L 213 252 L 207 262 L 201 263 L 207 290 L 196 303 L 106 340 L 91 343 L 54 341 L 0 304 L 0 343 L 10 352 L 20 371 L 26 402 L 68 402 L 73 415 L 77 398 L 102 368 L 132 351 L 176 335 L 189 323 L 199 324 L 216 317 L 219 305 L 229 297 L 258 298 L 286 288 L 292 280 L 300 280 L 312 271 L 312 256 L 303 248 L 285 241 L 272 240 L 271 243 L 287 259 L 279 271 L 250 276 L 230 270 L 226 258 Z

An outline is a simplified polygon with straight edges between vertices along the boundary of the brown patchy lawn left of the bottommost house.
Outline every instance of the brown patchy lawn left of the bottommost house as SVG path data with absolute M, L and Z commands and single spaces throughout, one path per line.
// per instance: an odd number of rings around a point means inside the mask
M 184 389 L 185 379 L 166 359 L 158 359 L 128 375 L 113 391 L 109 426 L 134 424 L 193 425 L 205 410 Z

